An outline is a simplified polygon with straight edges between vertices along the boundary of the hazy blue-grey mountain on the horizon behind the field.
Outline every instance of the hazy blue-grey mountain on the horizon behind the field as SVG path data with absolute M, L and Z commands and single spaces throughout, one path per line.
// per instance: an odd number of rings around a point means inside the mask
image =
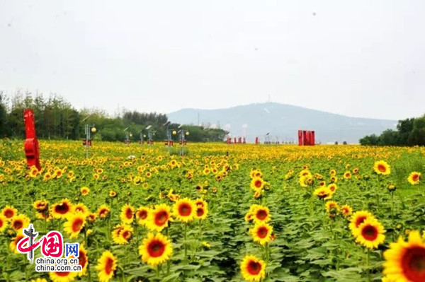
M 395 120 L 346 117 L 274 102 L 219 110 L 183 109 L 168 116 L 179 124 L 198 124 L 199 119 L 200 124 L 227 129 L 232 136 L 242 136 L 242 127 L 246 127 L 249 142 L 253 142 L 256 136 L 264 141 L 268 132 L 271 141 L 297 142 L 297 130 L 304 129 L 316 131 L 317 142 L 358 143 L 358 139 L 365 135 L 395 129 L 397 124 Z

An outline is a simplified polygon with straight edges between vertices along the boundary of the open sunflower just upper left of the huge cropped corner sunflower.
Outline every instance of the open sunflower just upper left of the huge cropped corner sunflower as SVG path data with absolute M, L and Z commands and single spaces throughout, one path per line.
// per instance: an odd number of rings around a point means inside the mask
M 356 242 L 369 248 L 376 249 L 385 241 L 385 230 L 375 218 L 368 218 L 358 226 Z

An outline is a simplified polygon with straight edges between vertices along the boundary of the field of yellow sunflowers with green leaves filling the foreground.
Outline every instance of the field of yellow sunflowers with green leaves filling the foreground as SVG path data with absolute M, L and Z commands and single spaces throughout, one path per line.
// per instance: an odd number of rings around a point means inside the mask
M 39 171 L 0 141 L 0 281 L 425 281 L 424 148 L 84 148 L 40 141 Z M 82 271 L 35 271 L 30 223 Z

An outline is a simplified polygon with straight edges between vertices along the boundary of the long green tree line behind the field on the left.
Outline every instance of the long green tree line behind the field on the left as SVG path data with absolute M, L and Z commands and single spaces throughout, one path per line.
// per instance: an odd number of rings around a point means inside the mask
M 149 130 L 153 133 L 154 141 L 166 140 L 166 114 L 123 110 L 111 117 L 103 110 L 76 110 L 60 95 L 52 94 L 45 98 L 41 93 L 33 95 L 28 91 L 16 91 L 12 97 L 0 91 L 0 138 L 25 138 L 24 109 L 33 109 L 39 139 L 83 139 L 84 125 L 90 124 L 97 129 L 93 134 L 94 140 L 124 141 L 128 132 L 130 141 L 139 141 L 141 135 L 147 135 L 146 127 L 149 125 L 152 126 Z M 168 123 L 168 128 L 176 131 L 180 126 L 181 124 Z M 222 129 L 193 125 L 184 125 L 182 128 L 190 132 L 188 140 L 196 142 L 223 141 L 228 134 Z M 174 136 L 174 140 L 176 139 Z

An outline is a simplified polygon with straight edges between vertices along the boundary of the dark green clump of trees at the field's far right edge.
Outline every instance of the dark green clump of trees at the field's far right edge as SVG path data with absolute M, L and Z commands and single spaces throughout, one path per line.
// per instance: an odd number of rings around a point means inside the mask
M 359 142 L 369 146 L 425 146 L 425 114 L 399 120 L 397 130 L 387 129 L 379 136 L 364 136 Z

